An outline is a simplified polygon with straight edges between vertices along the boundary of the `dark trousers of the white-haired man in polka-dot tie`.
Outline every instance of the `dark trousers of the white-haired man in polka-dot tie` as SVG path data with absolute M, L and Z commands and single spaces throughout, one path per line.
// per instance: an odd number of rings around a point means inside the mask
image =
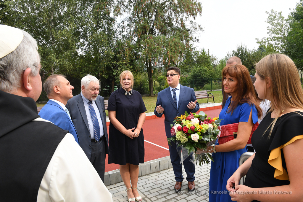
M 103 135 L 99 142 L 92 142 L 91 163 L 99 174 L 102 182 L 104 182 L 105 174 L 105 136 Z

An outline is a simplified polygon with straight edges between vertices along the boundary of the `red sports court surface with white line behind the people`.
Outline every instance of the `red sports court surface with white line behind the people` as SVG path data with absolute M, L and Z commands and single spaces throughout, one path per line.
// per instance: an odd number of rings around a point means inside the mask
M 212 109 L 204 112 L 208 115 L 208 117 L 214 118 L 219 116 L 220 111 L 221 109 Z M 164 118 L 146 119 L 142 128 L 144 133 L 144 140 L 168 149 L 168 143 L 166 140 L 164 128 Z M 109 133 L 108 130 L 109 127 L 107 127 L 107 133 Z M 148 142 L 144 142 L 144 162 L 169 156 L 168 150 L 155 146 Z M 119 169 L 119 165 L 113 163 L 108 164 L 108 155 L 106 154 L 105 172 L 115 169 Z

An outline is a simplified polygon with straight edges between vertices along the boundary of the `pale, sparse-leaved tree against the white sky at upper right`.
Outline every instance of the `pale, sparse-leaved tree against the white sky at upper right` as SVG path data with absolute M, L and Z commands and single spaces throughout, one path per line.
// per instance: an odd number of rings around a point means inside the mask
M 257 43 L 262 46 L 270 45 L 275 51 L 285 53 L 289 19 L 285 19 L 282 12 L 277 12 L 273 9 L 271 9 L 271 12 L 266 11 L 265 13 L 269 15 L 265 21 L 270 25 L 267 27 L 269 37 L 264 37 L 261 40 L 257 38 Z

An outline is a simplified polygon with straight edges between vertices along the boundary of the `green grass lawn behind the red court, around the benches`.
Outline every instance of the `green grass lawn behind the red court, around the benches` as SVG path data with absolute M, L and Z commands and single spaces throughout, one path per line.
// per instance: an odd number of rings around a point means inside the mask
M 213 92 L 208 92 L 208 93 L 212 93 L 214 94 L 215 96 L 215 102 L 222 102 L 222 91 L 213 91 Z M 155 110 L 155 107 L 156 107 L 156 102 L 157 102 L 157 96 L 154 96 L 154 97 L 142 97 L 143 99 L 143 102 L 145 104 L 145 107 L 146 107 L 146 112 L 153 112 Z M 198 103 L 206 103 L 207 102 L 207 99 L 204 98 L 204 99 L 198 99 Z M 212 98 L 209 98 L 209 101 L 208 102 L 213 102 L 213 99 Z M 37 104 L 37 107 L 42 107 L 44 106 L 45 104 Z M 106 110 L 106 116 L 108 116 L 108 111 Z

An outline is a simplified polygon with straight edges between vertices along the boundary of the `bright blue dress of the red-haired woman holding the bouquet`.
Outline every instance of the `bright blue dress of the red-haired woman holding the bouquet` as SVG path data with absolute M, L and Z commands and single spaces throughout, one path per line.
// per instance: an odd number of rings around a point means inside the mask
M 252 110 L 252 122 L 258 122 L 258 112 L 254 105 L 248 103 L 238 104 L 234 112 L 227 113 L 228 105 L 231 97 L 226 100 L 224 108 L 222 108 L 219 120 L 220 125 L 233 124 L 238 122 L 248 122 L 250 111 Z M 218 140 L 215 145 L 218 145 Z M 227 180 L 239 167 L 239 158 L 247 152 L 244 149 L 238 149 L 231 152 L 217 152 L 213 153 L 215 162 L 211 162 L 210 179 L 209 179 L 209 202 L 226 202 L 231 201 L 229 191 L 226 189 Z

